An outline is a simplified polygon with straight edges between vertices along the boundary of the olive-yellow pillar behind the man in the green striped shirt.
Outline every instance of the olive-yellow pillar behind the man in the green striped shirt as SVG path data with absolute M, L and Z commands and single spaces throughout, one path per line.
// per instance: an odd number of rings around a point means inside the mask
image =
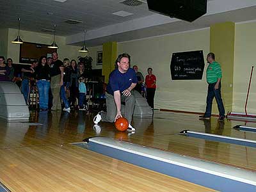
M 233 68 L 234 68 L 234 22 L 214 24 L 210 28 L 210 51 L 214 52 L 215 59 L 221 65 L 221 95 L 226 111 L 232 111 L 233 97 Z M 231 69 L 231 70 L 230 70 Z M 216 102 L 212 113 L 218 114 Z

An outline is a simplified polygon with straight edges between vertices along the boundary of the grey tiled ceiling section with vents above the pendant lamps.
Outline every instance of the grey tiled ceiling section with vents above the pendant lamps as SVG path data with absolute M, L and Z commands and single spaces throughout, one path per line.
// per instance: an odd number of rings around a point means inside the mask
M 67 0 L 64 3 L 53 0 L 0 0 L 0 26 L 41 32 L 42 28 L 52 29 L 56 24 L 56 35 L 81 33 L 84 28 L 92 30 L 112 24 L 152 15 L 147 4 L 138 7 L 120 4 L 121 0 Z M 133 13 L 120 17 L 112 13 L 125 11 Z M 47 13 L 53 13 L 48 15 Z M 81 20 L 82 24 L 67 24 L 67 19 Z

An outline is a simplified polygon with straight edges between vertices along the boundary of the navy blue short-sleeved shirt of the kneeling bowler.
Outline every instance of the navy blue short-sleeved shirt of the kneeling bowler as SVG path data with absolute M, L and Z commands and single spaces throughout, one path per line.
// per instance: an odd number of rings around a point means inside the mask
M 107 92 L 114 95 L 115 91 L 124 92 L 127 88 L 131 86 L 132 83 L 137 83 L 138 79 L 136 73 L 132 68 L 128 68 L 127 72 L 122 74 L 118 68 L 113 70 L 109 75 L 109 83 L 107 85 Z

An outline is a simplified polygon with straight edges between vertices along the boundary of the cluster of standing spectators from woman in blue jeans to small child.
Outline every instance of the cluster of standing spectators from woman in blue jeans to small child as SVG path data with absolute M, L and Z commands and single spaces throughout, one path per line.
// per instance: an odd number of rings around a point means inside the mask
M 58 59 L 56 52 L 52 53 L 52 58 L 42 56 L 35 70 L 39 100 L 40 97 L 44 98 L 42 104 L 39 102 L 40 109 L 42 111 L 47 111 L 49 108 L 53 111 L 61 110 L 61 100 L 63 100 L 63 111 L 70 112 L 70 108 L 76 107 L 79 110 L 86 110 L 85 78 L 83 63 L 77 65 L 76 60 L 70 61 L 68 58 L 62 62 Z M 76 100 L 78 100 L 77 105 Z

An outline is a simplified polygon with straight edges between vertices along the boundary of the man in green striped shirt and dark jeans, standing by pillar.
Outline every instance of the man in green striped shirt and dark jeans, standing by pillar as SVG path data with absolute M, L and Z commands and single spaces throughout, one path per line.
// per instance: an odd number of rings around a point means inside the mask
M 209 52 L 207 54 L 207 63 L 209 66 L 206 71 L 206 79 L 208 83 L 208 93 L 206 100 L 206 109 L 203 116 L 199 116 L 200 118 L 210 118 L 212 113 L 212 100 L 216 99 L 219 109 L 219 120 L 225 119 L 225 109 L 223 106 L 223 102 L 221 99 L 221 67 L 220 63 L 215 61 L 215 55 L 213 52 Z

